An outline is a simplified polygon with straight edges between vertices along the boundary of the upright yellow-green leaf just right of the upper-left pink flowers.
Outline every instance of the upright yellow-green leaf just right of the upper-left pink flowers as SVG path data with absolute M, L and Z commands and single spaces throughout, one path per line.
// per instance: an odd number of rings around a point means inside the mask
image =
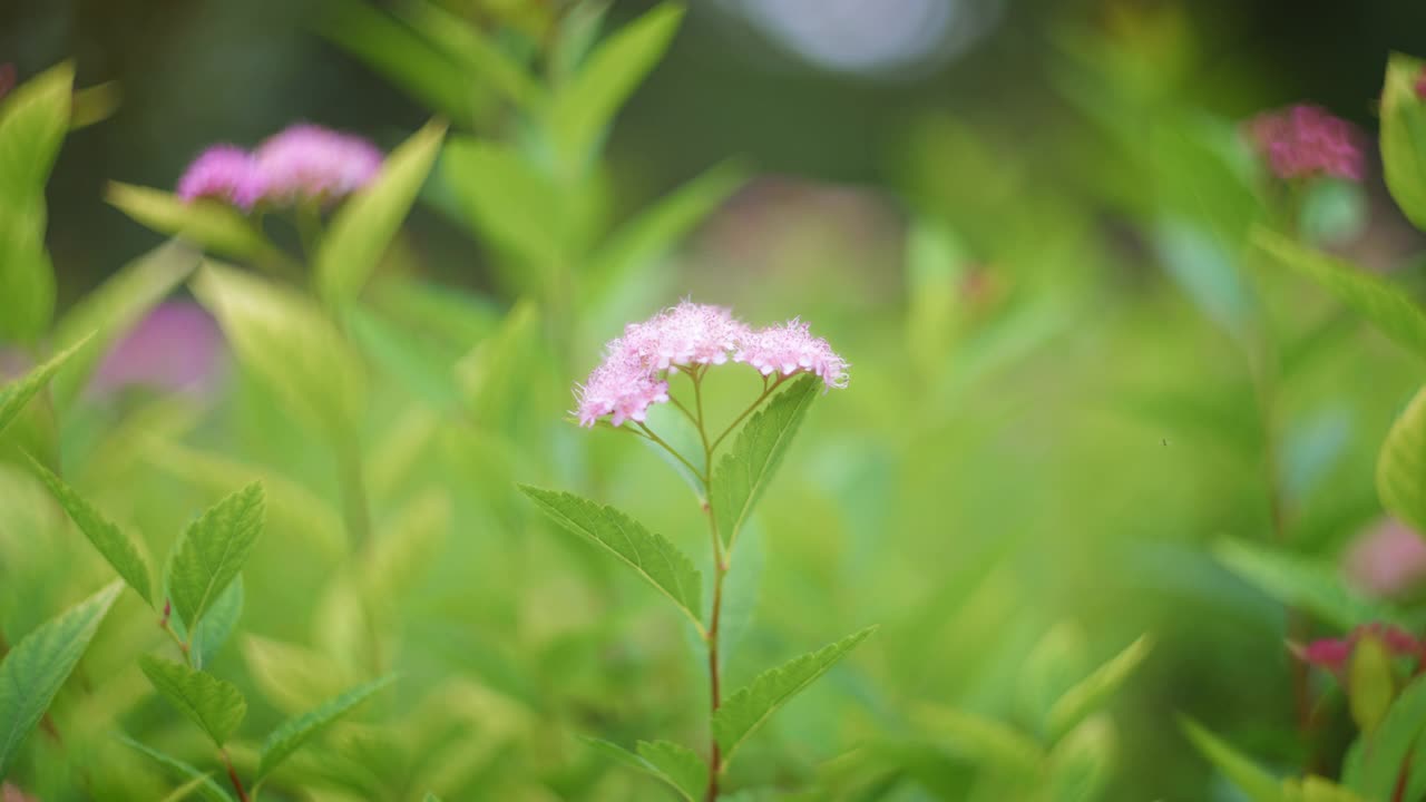
M 375 181 L 347 198 L 337 211 L 312 264 L 317 288 L 327 303 L 351 301 L 366 287 L 416 201 L 442 138 L 445 126 L 426 123 L 391 151 Z

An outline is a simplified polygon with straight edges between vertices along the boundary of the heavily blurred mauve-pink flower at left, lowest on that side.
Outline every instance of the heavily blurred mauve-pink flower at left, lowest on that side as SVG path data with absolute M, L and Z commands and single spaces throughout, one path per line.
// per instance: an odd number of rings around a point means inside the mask
M 110 348 L 90 390 L 107 397 L 125 387 L 205 394 L 221 368 L 222 335 L 198 304 L 168 301 Z

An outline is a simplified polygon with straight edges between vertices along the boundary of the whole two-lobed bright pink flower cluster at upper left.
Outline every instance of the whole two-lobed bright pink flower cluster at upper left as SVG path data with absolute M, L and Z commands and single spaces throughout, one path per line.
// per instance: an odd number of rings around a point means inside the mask
M 258 204 L 325 205 L 369 184 L 381 164 L 382 153 L 369 141 L 302 123 L 254 151 L 231 144 L 210 147 L 178 180 L 178 197 L 215 198 L 244 211 Z

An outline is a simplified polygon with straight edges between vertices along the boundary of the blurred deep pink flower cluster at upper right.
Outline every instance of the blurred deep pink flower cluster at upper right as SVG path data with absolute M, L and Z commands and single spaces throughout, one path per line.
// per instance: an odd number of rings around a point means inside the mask
M 1259 114 L 1248 123 L 1248 136 L 1279 178 L 1332 176 L 1360 181 L 1366 168 L 1360 131 L 1319 106 Z

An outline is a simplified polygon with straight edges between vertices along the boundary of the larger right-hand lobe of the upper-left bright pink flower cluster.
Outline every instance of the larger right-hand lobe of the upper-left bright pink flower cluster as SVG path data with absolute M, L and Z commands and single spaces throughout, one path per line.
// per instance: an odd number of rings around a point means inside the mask
M 382 154 L 362 137 L 301 123 L 272 136 L 254 153 L 264 200 L 331 203 L 365 187 L 381 171 Z

